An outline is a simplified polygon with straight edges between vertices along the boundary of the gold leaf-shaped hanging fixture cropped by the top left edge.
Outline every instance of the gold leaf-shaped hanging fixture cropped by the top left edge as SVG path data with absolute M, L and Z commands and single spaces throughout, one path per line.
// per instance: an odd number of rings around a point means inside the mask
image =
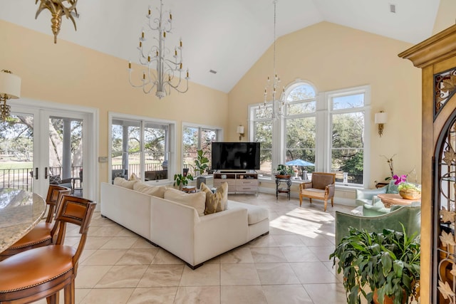
M 35 4 L 37 4 L 38 1 L 40 1 L 40 6 L 36 11 L 35 19 L 38 18 L 38 15 L 44 9 L 51 11 L 51 28 L 54 34 L 54 43 L 57 43 L 57 35 L 58 32 L 60 32 L 63 15 L 66 16 L 66 19 L 73 21 L 74 30 L 76 31 L 76 21 L 74 21 L 73 16 L 79 16 L 78 11 L 76 11 L 78 0 L 36 0 Z M 66 2 L 68 2 L 67 5 L 65 5 Z

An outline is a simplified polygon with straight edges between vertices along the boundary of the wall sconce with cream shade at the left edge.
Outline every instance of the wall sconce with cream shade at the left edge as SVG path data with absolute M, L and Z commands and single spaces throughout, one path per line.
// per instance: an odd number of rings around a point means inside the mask
M 0 72 L 0 117 L 6 120 L 11 112 L 11 107 L 6 105 L 6 100 L 21 97 L 21 78 L 9 70 Z

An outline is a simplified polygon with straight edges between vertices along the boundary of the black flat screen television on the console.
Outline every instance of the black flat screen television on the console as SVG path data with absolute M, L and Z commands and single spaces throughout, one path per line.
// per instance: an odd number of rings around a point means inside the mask
M 259 169 L 259 142 L 212 142 L 212 169 Z

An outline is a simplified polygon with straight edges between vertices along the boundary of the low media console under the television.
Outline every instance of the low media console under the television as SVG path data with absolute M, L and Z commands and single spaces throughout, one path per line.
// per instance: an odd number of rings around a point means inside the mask
M 220 170 L 214 172 L 214 187 L 219 187 L 223 182 L 228 183 L 229 194 L 258 194 L 258 174 L 254 170 Z

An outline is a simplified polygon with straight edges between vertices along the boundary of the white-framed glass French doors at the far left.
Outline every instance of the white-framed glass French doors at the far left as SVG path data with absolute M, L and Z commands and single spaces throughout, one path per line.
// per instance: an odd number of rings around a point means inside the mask
M 25 189 L 46 197 L 61 184 L 93 199 L 93 115 L 88 112 L 11 105 L 0 122 L 0 187 Z

